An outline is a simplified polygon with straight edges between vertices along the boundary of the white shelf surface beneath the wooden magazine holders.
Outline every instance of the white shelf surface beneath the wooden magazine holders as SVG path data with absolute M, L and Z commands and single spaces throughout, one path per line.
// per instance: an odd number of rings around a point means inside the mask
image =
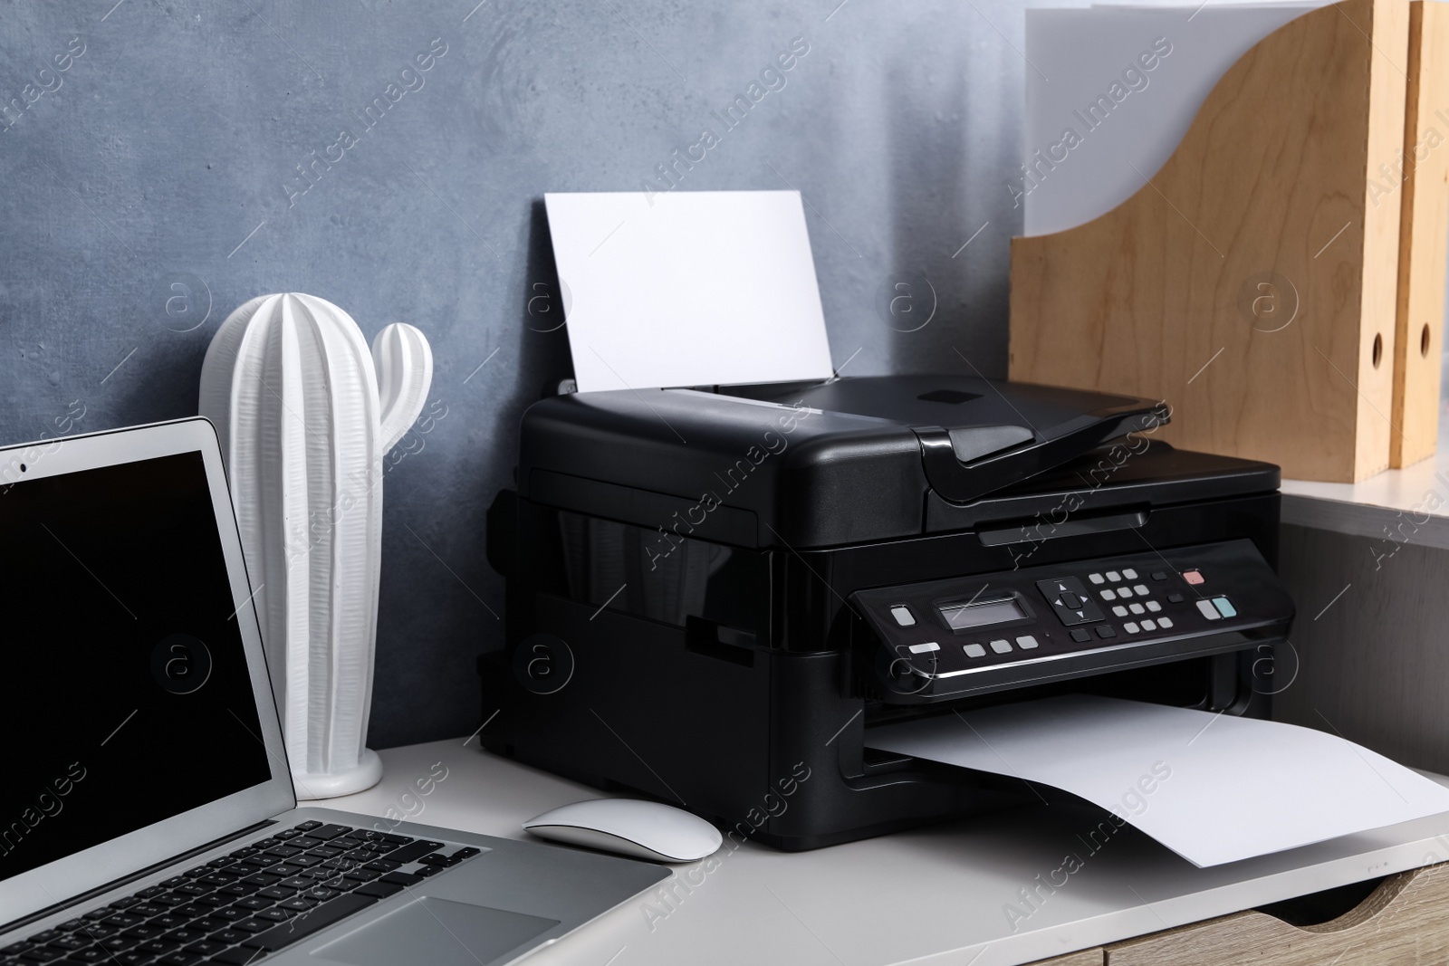
M 1281 491 L 1284 523 L 1449 549 L 1449 419 L 1439 452 L 1413 466 L 1356 484 L 1284 479 Z

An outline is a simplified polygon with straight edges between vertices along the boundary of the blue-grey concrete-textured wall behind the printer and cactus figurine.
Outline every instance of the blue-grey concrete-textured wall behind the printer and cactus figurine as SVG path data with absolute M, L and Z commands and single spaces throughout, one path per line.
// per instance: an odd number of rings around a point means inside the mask
M 0 442 L 75 406 L 81 430 L 194 414 L 209 339 L 256 294 L 329 298 L 369 339 L 420 326 L 446 417 L 388 474 L 375 746 L 480 721 L 484 511 L 520 411 L 569 375 L 529 314 L 555 281 L 543 191 L 639 190 L 794 38 L 681 190 L 803 191 L 846 372 L 969 372 L 953 349 L 1006 371 L 1020 3 L 0 3 Z M 935 319 L 895 332 L 877 293 L 920 278 Z

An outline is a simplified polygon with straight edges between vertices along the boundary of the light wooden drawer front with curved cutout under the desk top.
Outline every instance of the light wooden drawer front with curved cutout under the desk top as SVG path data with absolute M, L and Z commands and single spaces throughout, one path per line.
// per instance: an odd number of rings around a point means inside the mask
M 1090 950 L 1088 954 L 1095 954 Z M 1052 963 L 1066 960 L 1051 960 Z M 1235 912 L 1113 943 L 1106 966 L 1430 966 L 1449 963 L 1449 863 L 1385 879 L 1320 925 Z

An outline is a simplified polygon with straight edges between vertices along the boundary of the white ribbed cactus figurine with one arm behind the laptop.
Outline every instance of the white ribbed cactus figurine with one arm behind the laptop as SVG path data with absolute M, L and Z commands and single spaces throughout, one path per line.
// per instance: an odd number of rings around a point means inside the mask
M 391 324 L 367 340 L 348 313 L 300 293 L 233 311 L 201 365 L 261 617 L 293 781 L 303 798 L 383 776 L 364 746 L 383 543 L 383 458 L 433 377 L 427 339 Z

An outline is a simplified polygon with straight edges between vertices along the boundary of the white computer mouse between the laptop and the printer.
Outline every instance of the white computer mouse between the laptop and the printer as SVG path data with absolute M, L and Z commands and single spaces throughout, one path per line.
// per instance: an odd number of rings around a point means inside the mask
M 593 798 L 523 823 L 535 836 L 651 862 L 694 862 L 723 843 L 719 828 L 674 805 Z

